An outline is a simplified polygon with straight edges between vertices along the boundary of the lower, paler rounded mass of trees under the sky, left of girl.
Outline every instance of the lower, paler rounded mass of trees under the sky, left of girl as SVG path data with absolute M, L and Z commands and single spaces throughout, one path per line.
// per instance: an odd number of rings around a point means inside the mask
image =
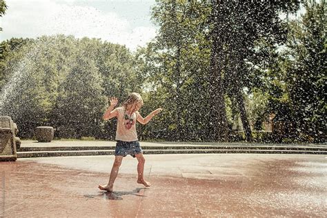
M 21 137 L 33 137 L 37 126 L 54 126 L 56 137 L 106 137 L 113 134 L 102 120 L 107 96 L 122 101 L 141 86 L 123 46 L 63 35 L 2 44 L 0 111 L 16 121 Z

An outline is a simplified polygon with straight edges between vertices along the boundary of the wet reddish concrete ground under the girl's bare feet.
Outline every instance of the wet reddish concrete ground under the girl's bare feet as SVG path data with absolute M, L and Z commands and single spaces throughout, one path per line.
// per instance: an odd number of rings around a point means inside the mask
M 3 217 L 326 217 L 325 155 L 146 155 L 152 186 L 123 159 L 114 192 L 113 156 L 0 162 Z

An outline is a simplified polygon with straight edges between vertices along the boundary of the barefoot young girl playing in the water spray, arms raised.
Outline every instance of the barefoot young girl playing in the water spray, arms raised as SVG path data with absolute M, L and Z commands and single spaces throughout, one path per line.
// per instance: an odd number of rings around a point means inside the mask
M 126 157 L 126 155 L 137 157 L 137 161 L 139 161 L 139 164 L 137 164 L 137 183 L 149 187 L 151 184 L 143 177 L 144 163 L 146 160 L 144 159 L 141 147 L 139 146 L 135 123 L 136 121 L 139 121 L 141 124 L 148 123 L 148 121 L 161 112 L 162 109 L 158 108 L 157 110 L 150 112 L 146 118 L 143 118 L 139 114 L 139 109 L 143 106 L 143 99 L 141 98 L 141 95 L 136 92 L 130 94 L 122 107 L 112 110 L 115 108 L 117 103 L 118 99 L 116 97 L 111 97 L 110 106 L 103 115 L 104 120 L 117 117 L 117 143 L 115 161 L 111 169 L 109 182 L 104 186 L 99 185 L 99 189 L 112 192 L 112 187 L 114 186 L 115 179 L 118 175 L 119 166 L 121 166 L 121 161 L 123 160 L 123 157 Z

